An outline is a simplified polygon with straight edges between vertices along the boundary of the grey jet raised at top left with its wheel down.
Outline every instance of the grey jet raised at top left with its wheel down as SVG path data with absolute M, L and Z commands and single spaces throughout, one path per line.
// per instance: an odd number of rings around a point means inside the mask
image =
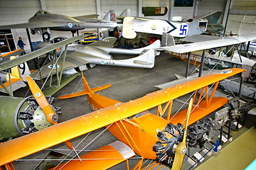
M 44 40 L 50 40 L 50 30 L 63 30 L 75 33 L 84 28 L 114 28 L 117 26 L 114 11 L 109 11 L 104 18 L 98 19 L 98 15 L 64 16 L 48 11 L 37 11 L 29 18 L 28 23 L 18 23 L 0 26 L 0 29 L 31 28 L 31 33 L 42 34 Z

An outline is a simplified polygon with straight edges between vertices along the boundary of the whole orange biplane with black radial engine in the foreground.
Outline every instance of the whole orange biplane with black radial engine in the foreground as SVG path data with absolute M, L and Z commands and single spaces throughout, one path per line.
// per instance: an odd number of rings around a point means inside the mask
M 225 69 L 171 88 L 146 94 L 142 98 L 127 103 L 95 94 L 95 91 L 106 89 L 110 85 L 90 89 L 85 78 L 82 77 L 85 91 L 60 98 L 86 95 L 94 112 L 2 143 L 0 145 L 0 166 L 108 126 L 107 130 L 117 137 L 118 142 L 82 156 L 76 154 L 77 158 L 60 164 L 54 169 L 108 169 L 125 160 L 127 160 L 127 169 L 129 169 L 128 159 L 135 155 L 134 152 L 141 157 L 134 169 L 141 169 L 144 159 L 156 159 L 159 164 L 163 163 L 174 169 L 181 169 L 183 157 L 186 154 L 186 124 L 196 123 L 228 103 L 228 98 L 213 96 L 219 81 L 243 71 L 244 69 Z M 211 88 L 213 91 L 209 94 L 208 91 Z M 201 94 L 197 95 L 199 89 L 201 89 Z M 189 98 L 193 98 L 191 100 L 194 101 L 193 106 L 191 102 L 188 109 L 171 115 L 173 100 L 191 92 L 193 94 Z M 157 107 L 156 114 L 147 111 L 154 107 Z M 191 107 L 192 111 L 189 111 Z M 184 131 L 183 125 L 185 125 Z M 23 147 L 23 143 L 30 147 Z

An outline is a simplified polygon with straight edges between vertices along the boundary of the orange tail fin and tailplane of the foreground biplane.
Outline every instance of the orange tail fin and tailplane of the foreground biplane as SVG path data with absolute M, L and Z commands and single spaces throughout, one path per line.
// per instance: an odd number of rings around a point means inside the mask
M 82 74 L 82 72 L 81 72 L 81 74 Z M 104 86 L 99 86 L 99 87 L 90 89 L 90 86 L 88 85 L 83 74 L 82 74 L 82 82 L 83 82 L 83 84 L 84 84 L 83 86 L 85 88 L 84 91 L 79 91 L 74 94 L 67 94 L 65 96 L 60 96 L 58 98 L 73 98 L 73 97 L 78 97 L 78 96 L 82 96 L 82 95 L 86 95 L 86 94 L 94 94 L 96 91 L 101 91 L 101 90 L 107 89 L 108 87 L 112 86 L 112 84 L 107 84 Z

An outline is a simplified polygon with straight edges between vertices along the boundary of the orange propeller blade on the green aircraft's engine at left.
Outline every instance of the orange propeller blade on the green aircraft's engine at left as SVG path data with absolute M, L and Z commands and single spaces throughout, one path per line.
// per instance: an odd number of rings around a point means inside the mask
M 57 124 L 58 115 L 51 108 L 50 104 L 46 100 L 46 96 L 43 95 L 43 92 L 41 91 L 41 89 L 38 87 L 38 85 L 35 83 L 35 81 L 33 81 L 33 79 L 30 76 L 27 76 L 26 79 L 28 82 L 28 86 L 31 89 L 31 92 L 34 98 L 36 98 L 38 105 L 41 107 L 43 112 L 46 113 L 48 122 L 54 125 Z

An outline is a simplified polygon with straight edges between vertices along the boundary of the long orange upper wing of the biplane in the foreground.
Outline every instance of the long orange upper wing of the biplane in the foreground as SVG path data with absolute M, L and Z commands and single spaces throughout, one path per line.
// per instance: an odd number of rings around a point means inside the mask
M 92 130 L 97 130 L 98 128 L 110 125 L 118 120 L 154 108 L 161 103 L 166 103 L 174 98 L 196 91 L 203 86 L 208 86 L 209 84 L 213 84 L 243 71 L 244 69 L 237 68 L 224 69 L 223 71 L 214 74 L 199 77 L 193 81 L 147 94 L 134 101 L 88 113 L 44 130 L 18 137 L 9 142 L 4 142 L 0 144 L 0 166 L 41 151 L 42 149 L 73 139 L 74 137 L 84 135 Z M 26 146 L 24 146 L 25 143 Z

